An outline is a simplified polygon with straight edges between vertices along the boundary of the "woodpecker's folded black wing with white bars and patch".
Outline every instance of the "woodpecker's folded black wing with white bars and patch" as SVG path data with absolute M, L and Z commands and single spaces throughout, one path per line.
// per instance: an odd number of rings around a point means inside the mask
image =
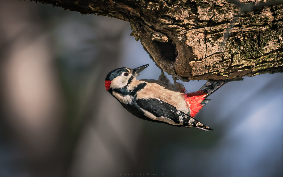
M 160 99 L 137 99 L 136 102 L 144 111 L 145 115 L 153 120 L 163 121 L 164 123 L 180 127 L 198 127 L 200 129 L 212 130 L 183 111 Z

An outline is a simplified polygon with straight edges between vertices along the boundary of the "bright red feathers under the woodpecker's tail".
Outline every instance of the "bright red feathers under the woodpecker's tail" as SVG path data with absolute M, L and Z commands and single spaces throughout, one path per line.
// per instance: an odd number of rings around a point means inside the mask
M 193 93 L 187 93 L 185 95 L 185 100 L 188 105 L 190 105 L 190 116 L 194 117 L 196 113 L 199 112 L 199 110 L 203 107 L 201 105 L 201 101 L 203 101 L 205 98 L 203 98 L 206 95 L 204 91 L 196 91 Z

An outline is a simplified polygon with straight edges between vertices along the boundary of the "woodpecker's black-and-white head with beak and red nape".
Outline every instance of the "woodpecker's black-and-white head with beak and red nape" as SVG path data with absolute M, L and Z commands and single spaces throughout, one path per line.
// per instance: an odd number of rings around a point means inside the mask
M 109 72 L 105 78 L 105 88 L 107 91 L 111 92 L 113 89 L 121 89 L 126 87 L 136 79 L 136 76 L 143 71 L 149 64 L 142 65 L 135 69 L 130 68 L 118 68 Z

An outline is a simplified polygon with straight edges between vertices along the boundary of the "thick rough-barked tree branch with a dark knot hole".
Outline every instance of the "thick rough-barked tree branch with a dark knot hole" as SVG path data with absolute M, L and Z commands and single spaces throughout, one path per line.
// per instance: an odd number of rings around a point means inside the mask
M 283 71 L 283 6 L 261 0 L 44 0 L 130 22 L 164 71 L 190 80 Z

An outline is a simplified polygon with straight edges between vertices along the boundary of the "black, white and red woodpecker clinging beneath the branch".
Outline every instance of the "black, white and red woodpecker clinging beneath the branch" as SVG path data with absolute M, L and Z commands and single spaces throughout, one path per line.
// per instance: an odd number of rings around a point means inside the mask
M 206 98 L 225 81 L 208 81 L 198 91 L 186 93 L 182 84 L 171 84 L 163 71 L 158 80 L 137 80 L 138 74 L 148 66 L 118 68 L 109 72 L 105 78 L 106 90 L 138 118 L 179 127 L 213 130 L 194 119 L 194 116 L 210 101 Z

